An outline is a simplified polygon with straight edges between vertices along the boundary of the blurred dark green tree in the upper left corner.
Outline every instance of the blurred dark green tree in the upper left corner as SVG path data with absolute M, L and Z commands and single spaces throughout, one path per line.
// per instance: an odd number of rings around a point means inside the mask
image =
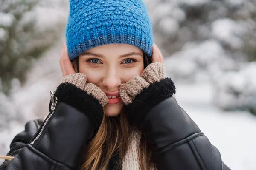
M 56 18 L 60 17 L 56 2 L 0 0 L 0 90 L 4 93 L 8 94 L 13 78 L 24 82 L 35 59 L 63 33 L 66 17 Z

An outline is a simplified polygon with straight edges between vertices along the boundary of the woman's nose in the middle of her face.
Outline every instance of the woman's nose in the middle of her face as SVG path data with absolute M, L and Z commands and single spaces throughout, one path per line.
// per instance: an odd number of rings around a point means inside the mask
M 116 87 L 120 86 L 121 82 L 122 81 L 117 74 L 117 71 L 112 69 L 106 72 L 102 84 L 108 89 L 116 90 Z

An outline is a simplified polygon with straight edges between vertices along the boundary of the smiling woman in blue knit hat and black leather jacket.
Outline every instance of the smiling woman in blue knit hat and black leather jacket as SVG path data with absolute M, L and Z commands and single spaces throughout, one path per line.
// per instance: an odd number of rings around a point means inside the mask
M 229 170 L 173 97 L 142 1 L 70 0 L 66 37 L 50 113 L 1 170 Z

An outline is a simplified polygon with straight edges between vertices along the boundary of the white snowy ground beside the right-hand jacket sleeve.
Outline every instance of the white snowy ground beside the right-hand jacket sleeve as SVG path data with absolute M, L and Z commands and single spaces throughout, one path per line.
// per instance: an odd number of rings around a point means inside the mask
M 256 117 L 247 112 L 224 112 L 212 106 L 212 88 L 176 83 L 176 98 L 232 170 L 256 170 Z

